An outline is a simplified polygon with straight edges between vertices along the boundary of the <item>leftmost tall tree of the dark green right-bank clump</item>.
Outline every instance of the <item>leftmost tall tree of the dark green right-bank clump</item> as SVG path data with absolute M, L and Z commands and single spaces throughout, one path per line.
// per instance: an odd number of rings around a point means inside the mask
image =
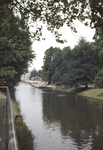
M 48 84 L 51 82 L 59 82 L 60 78 L 57 79 L 57 76 L 60 73 L 62 64 L 62 51 L 60 48 L 50 47 L 45 51 L 44 56 L 44 65 L 42 77 L 44 81 L 47 81 Z

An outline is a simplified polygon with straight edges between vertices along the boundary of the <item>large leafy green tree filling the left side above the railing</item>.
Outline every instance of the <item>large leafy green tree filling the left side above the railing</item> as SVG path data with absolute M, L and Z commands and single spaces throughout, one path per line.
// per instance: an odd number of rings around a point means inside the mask
M 7 8 L 0 6 L 0 84 L 11 87 L 27 72 L 35 55 L 26 24 Z

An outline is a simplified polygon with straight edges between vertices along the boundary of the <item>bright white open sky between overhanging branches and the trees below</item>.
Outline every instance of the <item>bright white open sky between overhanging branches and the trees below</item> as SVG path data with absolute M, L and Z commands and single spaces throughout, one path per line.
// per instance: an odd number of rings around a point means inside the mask
M 47 31 L 46 28 L 44 28 L 43 35 L 46 37 L 46 40 L 40 42 L 33 42 L 32 48 L 36 53 L 36 58 L 35 60 L 33 60 L 33 64 L 31 64 L 29 70 L 31 71 L 35 68 L 38 71 L 41 69 L 41 67 L 43 66 L 44 52 L 51 46 L 60 47 L 61 49 L 66 46 L 70 46 L 71 48 L 73 48 L 77 44 L 80 37 L 86 38 L 86 40 L 89 42 L 92 41 L 95 29 L 92 30 L 91 28 L 86 27 L 79 21 L 76 21 L 75 26 L 78 31 L 77 34 L 73 33 L 73 31 L 71 31 L 66 25 L 64 25 L 64 27 L 60 29 L 60 33 L 62 33 L 63 37 L 62 39 L 67 40 L 67 42 L 64 44 L 57 43 L 53 34 Z

